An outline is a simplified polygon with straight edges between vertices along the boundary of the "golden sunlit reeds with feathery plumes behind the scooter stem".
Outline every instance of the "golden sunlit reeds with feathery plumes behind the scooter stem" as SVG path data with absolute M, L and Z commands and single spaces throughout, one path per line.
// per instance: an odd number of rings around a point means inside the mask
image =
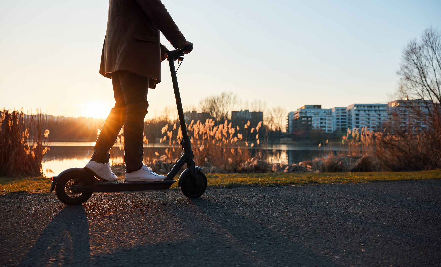
M 207 119 L 205 123 L 191 121 L 187 125 L 187 132 L 191 137 L 196 165 L 214 167 L 218 172 L 234 173 L 239 171 L 241 164 L 251 159 L 251 150 L 248 148 L 254 149 L 256 158 L 261 158 L 262 147 L 267 140 L 261 129 L 262 122 L 256 128 L 249 129 L 249 126 L 249 121 L 244 126 L 232 126 L 227 121 L 215 126 L 213 119 Z M 170 127 L 167 124 L 161 133 L 164 135 L 161 143 L 168 142 L 169 148 L 165 149 L 163 155 L 147 149 L 144 161 L 148 165 L 154 165 L 158 160 L 173 162 L 181 156 L 181 149 L 175 147 L 182 137 L 181 128 L 177 129 L 176 123 Z M 254 138 L 256 141 L 251 142 Z M 144 138 L 144 142 L 149 141 Z

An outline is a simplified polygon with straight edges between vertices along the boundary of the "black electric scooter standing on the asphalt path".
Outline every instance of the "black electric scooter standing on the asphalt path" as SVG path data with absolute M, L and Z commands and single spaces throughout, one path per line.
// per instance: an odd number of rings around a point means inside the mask
M 164 190 L 170 188 L 173 183 L 176 183 L 176 180 L 173 178 L 185 163 L 187 168 L 179 175 L 178 187 L 189 198 L 198 198 L 204 194 L 207 188 L 207 177 L 202 172 L 203 169 L 194 163 L 194 153 L 191 149 L 190 137 L 187 135 L 187 126 L 185 124 L 174 63 L 175 59 L 182 61 L 183 51 L 189 51 L 191 48 L 192 46 L 189 45 L 180 52 L 167 52 L 179 122 L 181 123 L 183 137 L 180 144 L 183 146 L 183 153 L 172 170 L 165 176 L 165 179 L 159 182 L 126 182 L 124 180 L 110 182 L 101 180 L 101 178 L 94 176 L 92 172 L 85 168 L 69 168 L 59 175 L 52 177 L 51 193 L 55 189 L 56 196 L 61 202 L 66 205 L 78 205 L 86 202 L 93 192 Z

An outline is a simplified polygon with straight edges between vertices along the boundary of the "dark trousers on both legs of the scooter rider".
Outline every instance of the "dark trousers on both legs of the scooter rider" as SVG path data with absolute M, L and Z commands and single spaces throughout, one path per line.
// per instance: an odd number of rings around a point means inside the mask
M 107 163 L 109 149 L 116 142 L 124 125 L 124 163 L 126 170 L 142 167 L 144 118 L 149 103 L 149 78 L 125 70 L 112 73 L 113 95 L 116 103 L 106 118 L 93 149 L 92 160 Z

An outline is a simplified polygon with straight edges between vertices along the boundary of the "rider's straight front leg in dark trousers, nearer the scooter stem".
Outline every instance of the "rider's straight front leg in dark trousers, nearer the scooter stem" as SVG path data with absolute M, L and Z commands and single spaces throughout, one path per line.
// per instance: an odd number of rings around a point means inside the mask
M 142 139 L 144 136 L 144 118 L 149 103 L 147 92 L 149 78 L 128 71 L 118 71 L 121 90 L 126 103 L 124 121 L 124 162 L 126 170 L 137 171 L 142 168 Z

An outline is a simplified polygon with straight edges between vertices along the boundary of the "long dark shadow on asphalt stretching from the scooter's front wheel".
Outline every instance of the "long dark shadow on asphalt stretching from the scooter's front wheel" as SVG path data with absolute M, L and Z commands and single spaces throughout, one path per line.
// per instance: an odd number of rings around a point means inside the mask
M 212 234 L 230 236 L 225 245 L 236 253 L 242 253 L 251 262 L 264 261 L 266 264 L 282 266 L 336 266 L 328 259 L 315 254 L 307 248 L 264 225 L 251 221 L 229 208 L 220 207 L 206 198 L 193 198 L 191 202 L 207 216 L 216 221 L 211 227 Z

